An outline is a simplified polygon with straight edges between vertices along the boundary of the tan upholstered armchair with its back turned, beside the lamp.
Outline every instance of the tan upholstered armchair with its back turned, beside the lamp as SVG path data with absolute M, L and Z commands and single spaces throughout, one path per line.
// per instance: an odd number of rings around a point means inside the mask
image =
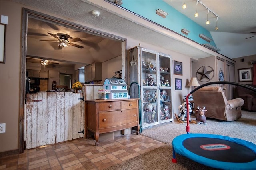
M 195 108 L 207 109 L 206 118 L 233 121 L 241 118 L 241 106 L 244 100 L 236 98 L 227 100 L 221 87 L 202 87 L 193 94 Z

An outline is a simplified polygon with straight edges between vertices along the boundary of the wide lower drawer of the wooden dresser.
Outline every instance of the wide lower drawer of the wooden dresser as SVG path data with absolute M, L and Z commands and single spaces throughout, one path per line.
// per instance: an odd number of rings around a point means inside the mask
M 137 109 L 99 113 L 99 129 L 137 122 Z

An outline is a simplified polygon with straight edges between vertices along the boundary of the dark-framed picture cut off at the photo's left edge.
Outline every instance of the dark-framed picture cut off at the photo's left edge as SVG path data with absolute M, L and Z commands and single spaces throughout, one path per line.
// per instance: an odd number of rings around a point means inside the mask
M 0 24 L 0 63 L 5 63 L 6 24 Z

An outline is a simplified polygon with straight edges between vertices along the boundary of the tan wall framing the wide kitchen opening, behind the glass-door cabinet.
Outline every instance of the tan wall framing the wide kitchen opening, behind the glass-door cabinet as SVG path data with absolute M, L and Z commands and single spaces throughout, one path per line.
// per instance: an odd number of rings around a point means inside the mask
M 1 15 L 8 16 L 6 35 L 6 63 L 0 64 L 0 123 L 6 123 L 6 133 L 0 134 L 0 152 L 18 149 L 18 115 L 19 115 L 19 94 L 20 94 L 20 58 L 21 58 L 21 28 L 22 28 L 22 7 L 42 12 L 27 6 L 22 6 L 12 1 L 0 1 Z M 44 12 L 42 12 L 44 13 Z M 58 18 L 62 16 L 46 13 Z M 71 21 L 77 23 L 76 21 Z M 79 23 L 86 26 L 84 23 Z M 94 28 L 96 29 L 96 28 Z M 106 31 L 107 32 L 107 31 Z M 108 31 L 110 34 L 114 32 Z M 182 90 L 172 89 L 172 112 L 178 112 L 178 106 L 184 95 L 188 94 L 190 88 L 186 86 L 190 80 L 190 57 L 182 54 L 152 46 L 151 44 L 138 42 L 130 37 L 127 38 L 127 49 L 137 46 L 169 54 L 172 60 L 183 63 L 183 76 L 172 75 L 171 84 L 174 87 L 174 79 L 182 79 Z

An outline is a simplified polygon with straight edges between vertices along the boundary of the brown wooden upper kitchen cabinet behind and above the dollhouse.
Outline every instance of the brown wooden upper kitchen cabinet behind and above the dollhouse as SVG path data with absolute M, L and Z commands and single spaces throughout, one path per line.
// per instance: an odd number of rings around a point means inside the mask
M 86 82 L 102 80 L 102 63 L 93 63 L 84 67 L 84 78 Z

